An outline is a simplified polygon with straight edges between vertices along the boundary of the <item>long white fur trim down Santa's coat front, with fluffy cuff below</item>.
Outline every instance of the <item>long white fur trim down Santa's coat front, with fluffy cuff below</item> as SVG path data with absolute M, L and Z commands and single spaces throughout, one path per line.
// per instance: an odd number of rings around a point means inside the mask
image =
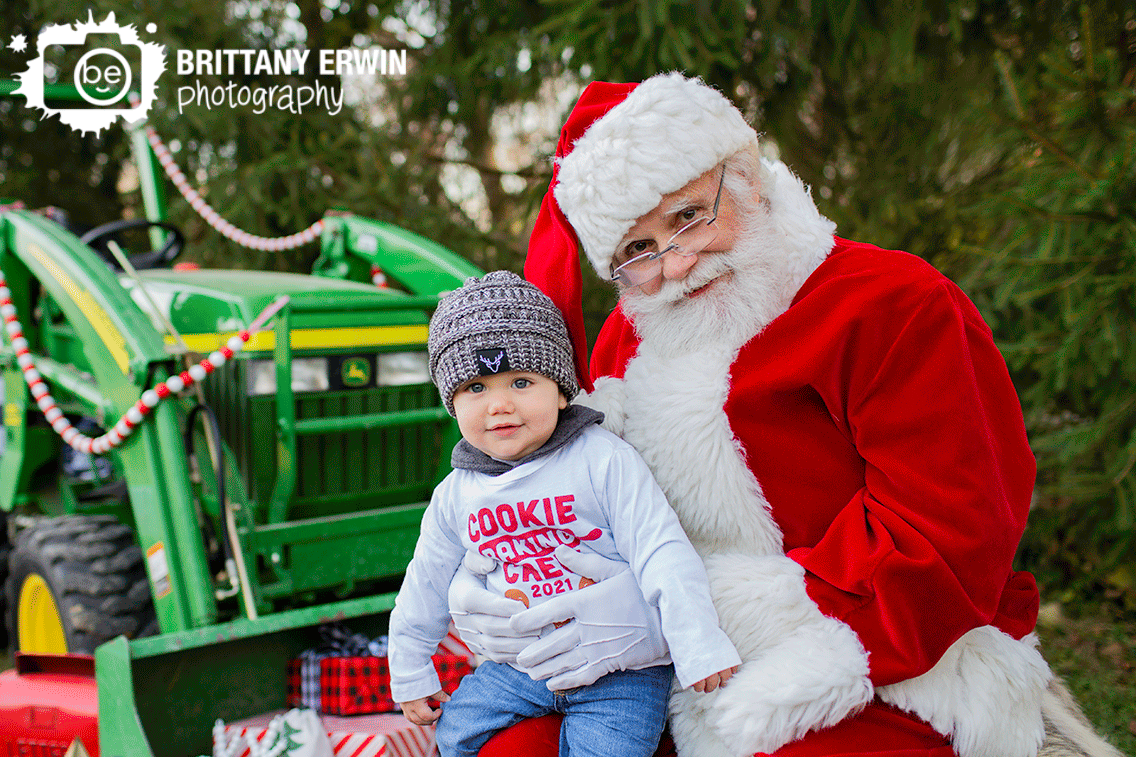
M 705 561 L 719 622 L 743 660 L 713 694 L 673 697 L 683 757 L 774 751 L 872 698 L 867 652 L 820 613 L 803 568 L 782 555 L 780 530 L 722 411 L 735 355 L 729 344 L 683 356 L 644 344 L 624 381 L 601 380 L 584 398 L 651 466 Z

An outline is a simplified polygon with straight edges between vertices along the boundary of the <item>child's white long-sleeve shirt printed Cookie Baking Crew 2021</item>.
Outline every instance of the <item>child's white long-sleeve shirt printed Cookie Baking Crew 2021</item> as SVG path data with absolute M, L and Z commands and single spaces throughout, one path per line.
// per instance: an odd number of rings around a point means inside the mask
M 628 564 L 657 606 L 670 656 L 688 687 L 740 658 L 718 627 L 701 558 L 627 442 L 592 425 L 559 450 L 491 476 L 456 469 L 434 490 L 421 534 L 391 613 L 391 692 L 395 701 L 440 689 L 431 656 L 450 622 L 446 594 L 466 550 L 499 561 L 491 591 L 531 605 L 577 589 L 578 576 L 553 557 L 567 544 Z M 635 601 L 628 598 L 628 601 Z

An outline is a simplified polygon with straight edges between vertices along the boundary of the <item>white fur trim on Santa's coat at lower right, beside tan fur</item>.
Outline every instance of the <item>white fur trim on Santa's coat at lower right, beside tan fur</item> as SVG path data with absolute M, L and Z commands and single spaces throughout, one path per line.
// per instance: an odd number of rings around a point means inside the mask
M 1042 699 L 1052 676 L 1036 635 L 1019 641 L 986 625 L 922 675 L 876 693 L 951 737 L 960 757 L 1033 757 L 1045 738 Z

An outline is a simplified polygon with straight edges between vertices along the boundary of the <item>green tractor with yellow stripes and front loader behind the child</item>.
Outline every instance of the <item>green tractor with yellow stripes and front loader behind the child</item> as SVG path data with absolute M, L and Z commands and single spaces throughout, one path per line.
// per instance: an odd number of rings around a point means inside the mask
M 285 704 L 287 660 L 320 623 L 385 627 L 458 439 L 429 383 L 429 313 L 481 272 L 351 215 L 324 218 L 311 275 L 172 268 L 181 234 L 145 136 L 134 145 L 147 221 L 80 239 L 0 211 L 6 319 L 19 324 L 0 343 L 0 579 L 16 650 L 94 656 L 103 755 L 198 755 L 216 718 Z M 154 250 L 124 256 L 130 226 Z M 395 286 L 371 283 L 374 266 Z M 243 349 L 99 456 L 45 418 L 11 338 L 93 438 L 273 303 Z

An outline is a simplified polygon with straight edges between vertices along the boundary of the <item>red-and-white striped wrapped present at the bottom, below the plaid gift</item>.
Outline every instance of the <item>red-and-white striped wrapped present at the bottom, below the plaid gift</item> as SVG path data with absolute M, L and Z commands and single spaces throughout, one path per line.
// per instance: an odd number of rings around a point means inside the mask
M 215 740 L 232 740 L 234 734 L 242 738 L 264 739 L 273 718 L 279 713 L 266 713 L 257 717 L 224 726 Z M 434 746 L 434 726 L 414 725 L 402 715 L 362 715 L 357 717 L 321 717 L 334 757 L 432 757 L 437 754 Z M 234 757 L 250 757 L 245 749 Z

